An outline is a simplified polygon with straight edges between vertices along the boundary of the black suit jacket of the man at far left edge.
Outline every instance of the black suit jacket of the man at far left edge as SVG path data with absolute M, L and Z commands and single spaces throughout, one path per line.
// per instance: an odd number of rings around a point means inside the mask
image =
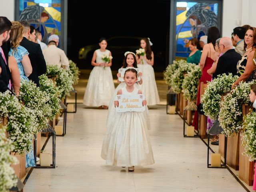
M 0 53 L 0 67 L 2 68 L 2 72 L 0 74 L 0 92 L 5 92 L 9 90 L 8 84 L 11 78 L 11 73 L 9 67 L 5 64 L 4 58 L 2 58 L 2 54 Z

